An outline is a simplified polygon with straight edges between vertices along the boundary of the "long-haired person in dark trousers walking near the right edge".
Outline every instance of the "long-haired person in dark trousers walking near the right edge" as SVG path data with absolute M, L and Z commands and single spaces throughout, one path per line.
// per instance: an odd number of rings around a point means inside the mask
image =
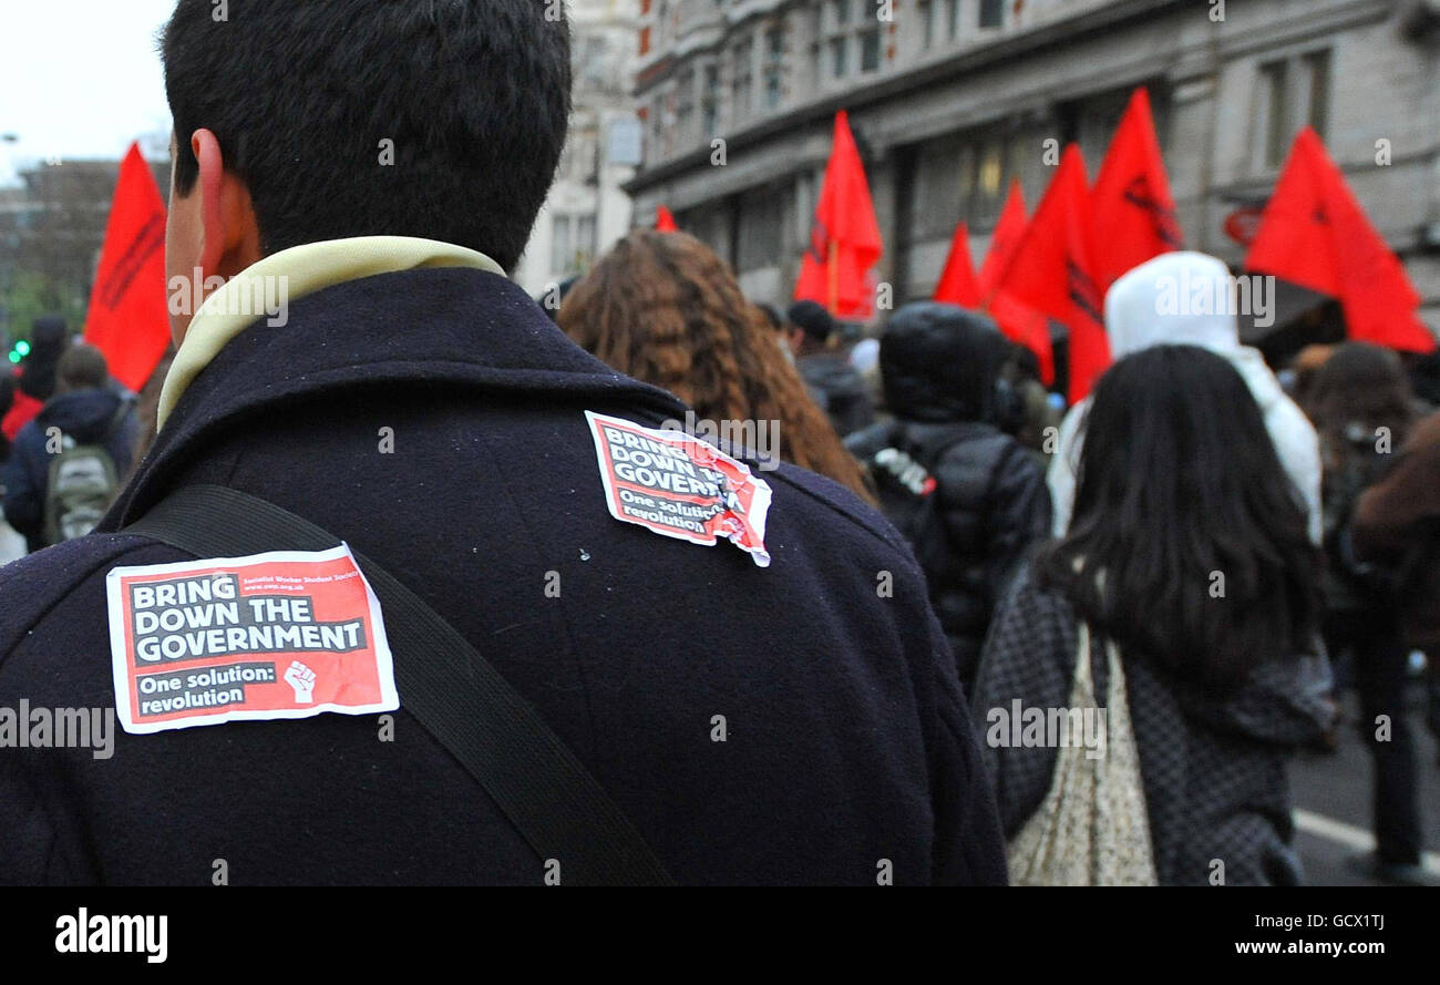
M 1408 559 L 1364 565 L 1351 536 L 1361 494 L 1385 475 L 1418 416 L 1414 395 L 1395 353 L 1349 341 L 1315 372 L 1306 410 L 1325 464 L 1325 641 L 1342 671 L 1349 668 L 1361 706 L 1356 726 L 1374 762 L 1375 853 L 1352 865 L 1387 883 L 1428 883 L 1420 867 L 1416 747 L 1405 709 L 1410 648 L 1400 579 Z M 1381 721 L 1388 721 L 1385 732 Z

